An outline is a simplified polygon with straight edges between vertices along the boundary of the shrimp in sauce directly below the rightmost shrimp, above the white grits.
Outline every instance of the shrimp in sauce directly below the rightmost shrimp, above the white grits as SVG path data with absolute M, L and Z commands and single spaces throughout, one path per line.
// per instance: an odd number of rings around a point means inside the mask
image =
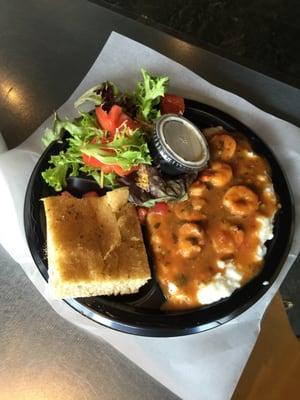
M 244 231 L 236 225 L 222 222 L 210 232 L 214 249 L 222 256 L 233 254 L 244 241 Z

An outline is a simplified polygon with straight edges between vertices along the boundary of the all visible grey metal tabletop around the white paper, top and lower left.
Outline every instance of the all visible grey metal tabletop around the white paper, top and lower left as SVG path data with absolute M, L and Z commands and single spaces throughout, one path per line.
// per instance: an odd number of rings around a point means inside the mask
M 84 0 L 0 0 L 0 132 L 21 143 L 73 92 L 115 30 L 300 125 L 300 91 Z M 171 399 L 109 345 L 59 317 L 0 249 L 2 399 Z

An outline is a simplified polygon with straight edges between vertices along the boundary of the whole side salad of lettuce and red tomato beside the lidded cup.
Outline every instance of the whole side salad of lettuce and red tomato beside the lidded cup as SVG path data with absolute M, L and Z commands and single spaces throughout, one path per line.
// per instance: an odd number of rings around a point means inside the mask
M 148 147 L 154 121 L 165 113 L 183 114 L 182 97 L 168 94 L 169 78 L 141 70 L 142 80 L 133 92 L 122 92 L 110 81 L 85 92 L 74 104 L 78 118 L 54 116 L 43 143 L 65 142 L 42 172 L 45 182 L 60 192 L 69 176 L 87 175 L 100 187 L 127 185 L 136 204 L 153 205 L 159 199 L 178 199 L 185 194 L 182 179 L 168 180 L 152 166 Z M 90 111 L 82 111 L 88 106 Z M 147 180 L 148 186 L 141 185 Z M 145 195 L 148 193 L 147 195 Z

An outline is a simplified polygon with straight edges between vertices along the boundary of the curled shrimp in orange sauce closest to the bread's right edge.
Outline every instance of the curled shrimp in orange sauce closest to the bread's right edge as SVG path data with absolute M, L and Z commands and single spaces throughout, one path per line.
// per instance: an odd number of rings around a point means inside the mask
M 204 246 L 204 231 L 196 224 L 185 223 L 178 229 L 178 252 L 184 258 L 195 257 Z

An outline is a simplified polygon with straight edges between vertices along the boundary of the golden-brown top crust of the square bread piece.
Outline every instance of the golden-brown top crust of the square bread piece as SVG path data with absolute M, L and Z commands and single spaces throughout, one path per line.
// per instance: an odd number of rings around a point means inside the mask
M 127 203 L 128 189 L 122 189 L 103 197 L 43 199 L 48 264 L 56 280 L 85 284 L 151 277 L 137 213 Z

